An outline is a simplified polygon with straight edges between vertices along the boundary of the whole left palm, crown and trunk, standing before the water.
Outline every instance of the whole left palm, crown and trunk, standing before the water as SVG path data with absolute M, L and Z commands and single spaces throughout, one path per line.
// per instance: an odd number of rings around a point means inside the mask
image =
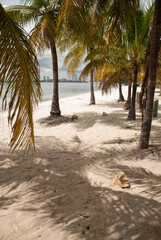
M 52 66 L 53 66 L 53 97 L 51 105 L 51 116 L 60 116 L 59 107 L 59 89 L 58 89 L 58 57 L 57 57 L 57 23 L 58 14 L 61 6 L 61 0 L 44 1 L 44 0 L 26 0 L 27 6 L 11 6 L 8 11 L 15 13 L 20 22 L 35 21 L 35 27 L 30 35 L 31 43 L 39 52 L 45 49 L 51 50 Z

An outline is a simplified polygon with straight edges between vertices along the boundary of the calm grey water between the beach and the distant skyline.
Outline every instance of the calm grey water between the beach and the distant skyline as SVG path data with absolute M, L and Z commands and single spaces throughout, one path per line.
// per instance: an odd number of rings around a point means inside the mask
M 41 82 L 42 101 L 52 100 L 53 82 Z M 94 83 L 94 89 L 98 90 L 98 83 Z M 74 97 L 82 93 L 90 92 L 89 82 L 59 82 L 59 98 Z M 9 97 L 7 99 L 9 102 Z M 2 98 L 0 98 L 0 110 L 2 109 Z

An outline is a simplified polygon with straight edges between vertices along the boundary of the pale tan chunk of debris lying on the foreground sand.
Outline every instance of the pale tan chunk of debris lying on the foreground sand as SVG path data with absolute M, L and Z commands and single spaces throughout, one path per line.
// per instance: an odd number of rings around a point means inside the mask
M 119 185 L 122 188 L 130 188 L 129 179 L 122 171 L 118 172 L 113 180 L 113 183 Z

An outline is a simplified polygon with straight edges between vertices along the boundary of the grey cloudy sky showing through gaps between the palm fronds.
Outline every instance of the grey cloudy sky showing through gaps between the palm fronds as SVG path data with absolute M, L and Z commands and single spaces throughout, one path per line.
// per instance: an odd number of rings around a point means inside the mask
M 153 0 L 142 0 L 142 3 L 150 3 Z M 0 0 L 0 3 L 3 6 L 6 5 L 16 5 L 16 4 L 21 4 L 21 0 Z M 27 26 L 26 31 L 29 31 L 32 29 L 32 26 Z M 64 54 L 59 54 L 58 53 L 58 67 L 59 67 L 59 78 L 67 78 L 69 79 L 70 77 L 67 74 L 67 70 L 63 69 L 63 61 L 64 61 L 65 53 Z M 52 60 L 51 60 L 51 53 L 50 51 L 46 51 L 43 56 L 38 56 L 39 63 L 40 63 L 40 75 L 41 79 L 44 78 L 44 76 L 52 78 Z M 84 65 L 80 66 L 78 71 L 76 72 L 77 76 L 83 69 Z

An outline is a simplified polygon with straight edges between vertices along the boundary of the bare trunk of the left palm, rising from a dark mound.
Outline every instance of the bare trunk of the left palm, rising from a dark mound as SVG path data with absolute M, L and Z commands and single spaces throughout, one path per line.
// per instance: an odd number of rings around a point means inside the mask
M 54 87 L 53 87 L 53 97 L 52 97 L 52 104 L 51 104 L 51 116 L 60 116 L 60 108 L 59 108 L 59 88 L 58 88 L 58 58 L 57 58 L 57 51 L 55 42 L 50 43 L 51 46 L 51 56 L 52 56 L 52 63 L 53 63 L 53 80 L 54 80 Z

